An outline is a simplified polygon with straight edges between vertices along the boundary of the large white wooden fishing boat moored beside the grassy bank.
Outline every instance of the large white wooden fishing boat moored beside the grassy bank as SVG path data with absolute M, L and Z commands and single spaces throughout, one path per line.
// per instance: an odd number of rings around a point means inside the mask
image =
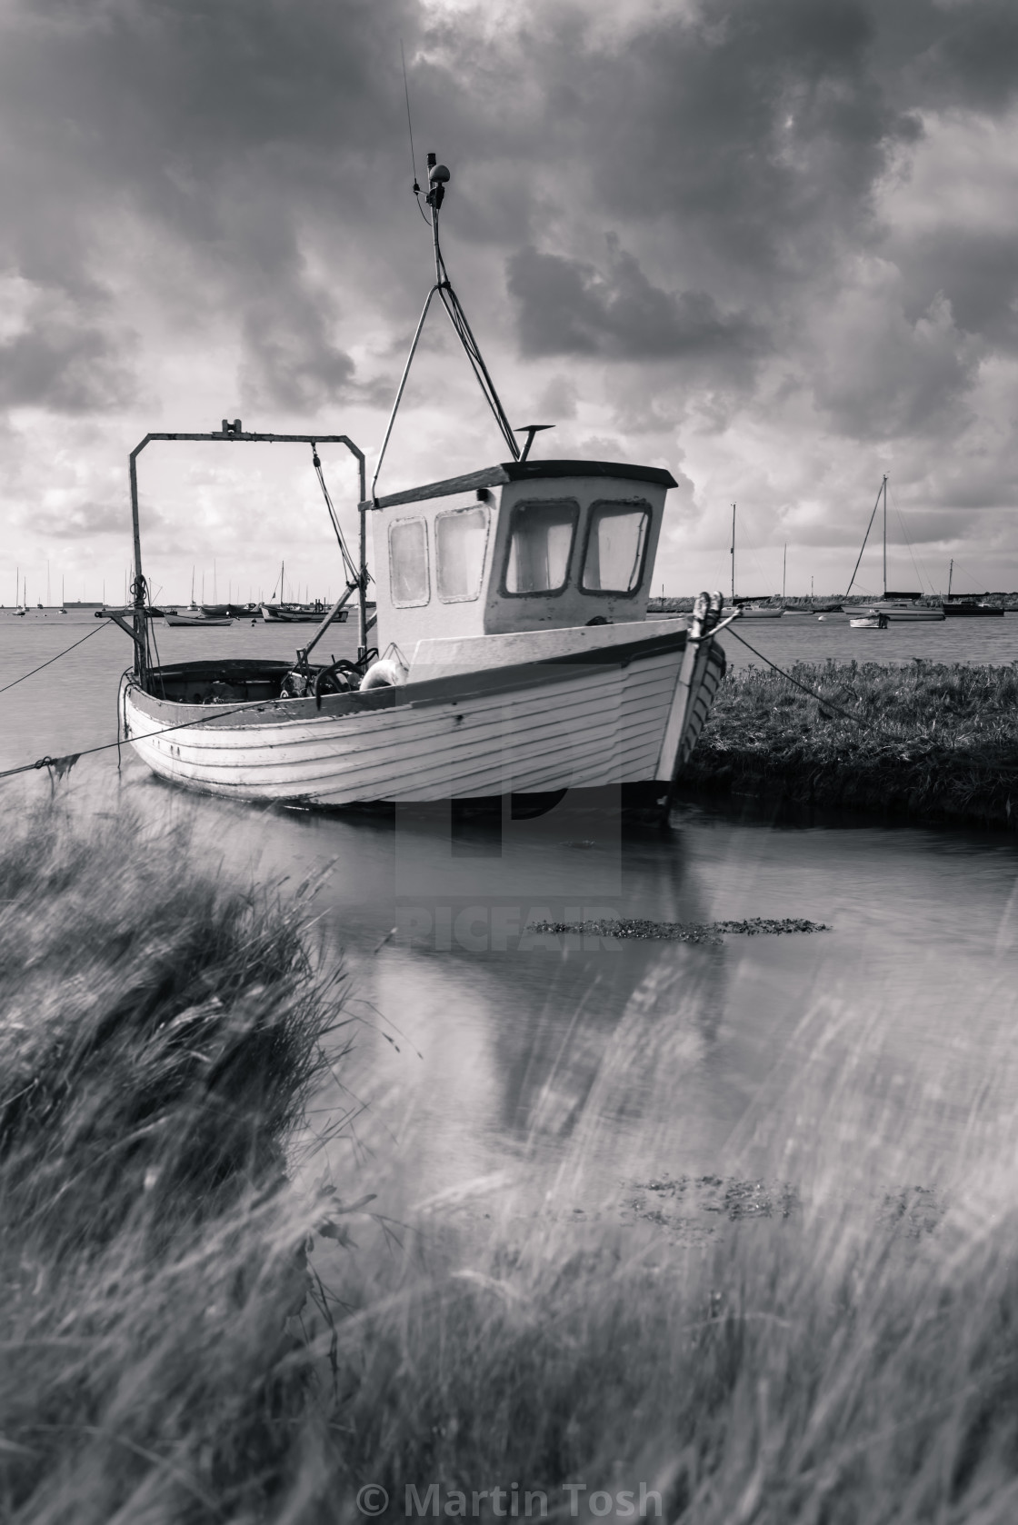
M 720 593 L 691 619 L 647 621 L 655 552 L 675 479 L 661 467 L 531 461 L 542 427 L 502 409 L 438 242 L 449 171 L 429 154 L 435 284 L 414 336 L 371 483 L 345 436 L 147 435 L 131 453 L 134 668 L 121 724 L 159 776 L 241 801 L 342 807 L 493 796 L 554 799 L 620 785 L 667 804 L 725 673 Z M 432 299 L 470 358 L 508 459 L 388 496 L 377 483 Z M 525 435 L 520 447 L 517 435 Z M 139 453 L 153 441 L 305 442 L 325 494 L 346 589 L 292 662 L 258 656 L 153 665 L 137 506 Z M 360 477 L 353 558 L 317 447 L 343 444 Z M 368 616 L 368 526 L 375 613 Z M 314 648 L 357 596 L 356 660 Z M 368 645 L 377 618 L 377 645 Z M 737 618 L 737 612 L 728 616 Z

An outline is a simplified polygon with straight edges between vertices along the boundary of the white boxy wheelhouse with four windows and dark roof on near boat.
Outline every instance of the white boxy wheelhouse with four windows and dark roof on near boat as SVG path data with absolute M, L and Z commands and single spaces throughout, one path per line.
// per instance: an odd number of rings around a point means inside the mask
M 366 503 L 379 647 L 644 619 L 675 485 L 658 467 L 510 461 Z

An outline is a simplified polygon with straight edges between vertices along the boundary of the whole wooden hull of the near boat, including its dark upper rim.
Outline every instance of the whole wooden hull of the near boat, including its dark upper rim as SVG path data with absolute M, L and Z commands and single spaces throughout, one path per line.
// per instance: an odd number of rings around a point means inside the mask
M 612 627 L 606 627 L 612 630 Z M 322 698 L 194 705 L 121 689 L 124 734 L 160 778 L 208 795 L 304 805 L 473 799 L 659 781 L 707 718 L 725 657 L 679 621 L 552 659 Z M 542 633 L 543 634 L 543 633 Z M 571 634 L 548 633 L 552 634 Z M 148 688 L 188 668 L 156 669 Z M 208 668 L 209 663 L 205 663 Z M 234 663 L 234 668 L 258 663 Z M 261 665 L 264 668 L 264 663 Z M 212 714 L 209 711 L 214 711 Z

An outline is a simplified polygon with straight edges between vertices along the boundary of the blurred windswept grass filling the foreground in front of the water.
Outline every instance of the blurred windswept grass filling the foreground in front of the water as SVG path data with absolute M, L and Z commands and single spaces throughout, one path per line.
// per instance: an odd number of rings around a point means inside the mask
M 287 1180 L 342 1042 L 299 906 L 55 813 L 0 900 L 5 1519 L 1013 1519 L 1013 1211 L 661 1179 L 400 1228 Z

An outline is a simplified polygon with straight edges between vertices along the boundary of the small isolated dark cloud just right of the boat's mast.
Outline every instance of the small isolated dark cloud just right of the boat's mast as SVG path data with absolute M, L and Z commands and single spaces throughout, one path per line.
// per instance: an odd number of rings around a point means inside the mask
M 520 249 L 508 261 L 525 355 L 621 360 L 748 355 L 760 336 L 742 314 L 723 314 L 707 291 L 662 291 L 607 239 L 607 273 L 581 259 Z

